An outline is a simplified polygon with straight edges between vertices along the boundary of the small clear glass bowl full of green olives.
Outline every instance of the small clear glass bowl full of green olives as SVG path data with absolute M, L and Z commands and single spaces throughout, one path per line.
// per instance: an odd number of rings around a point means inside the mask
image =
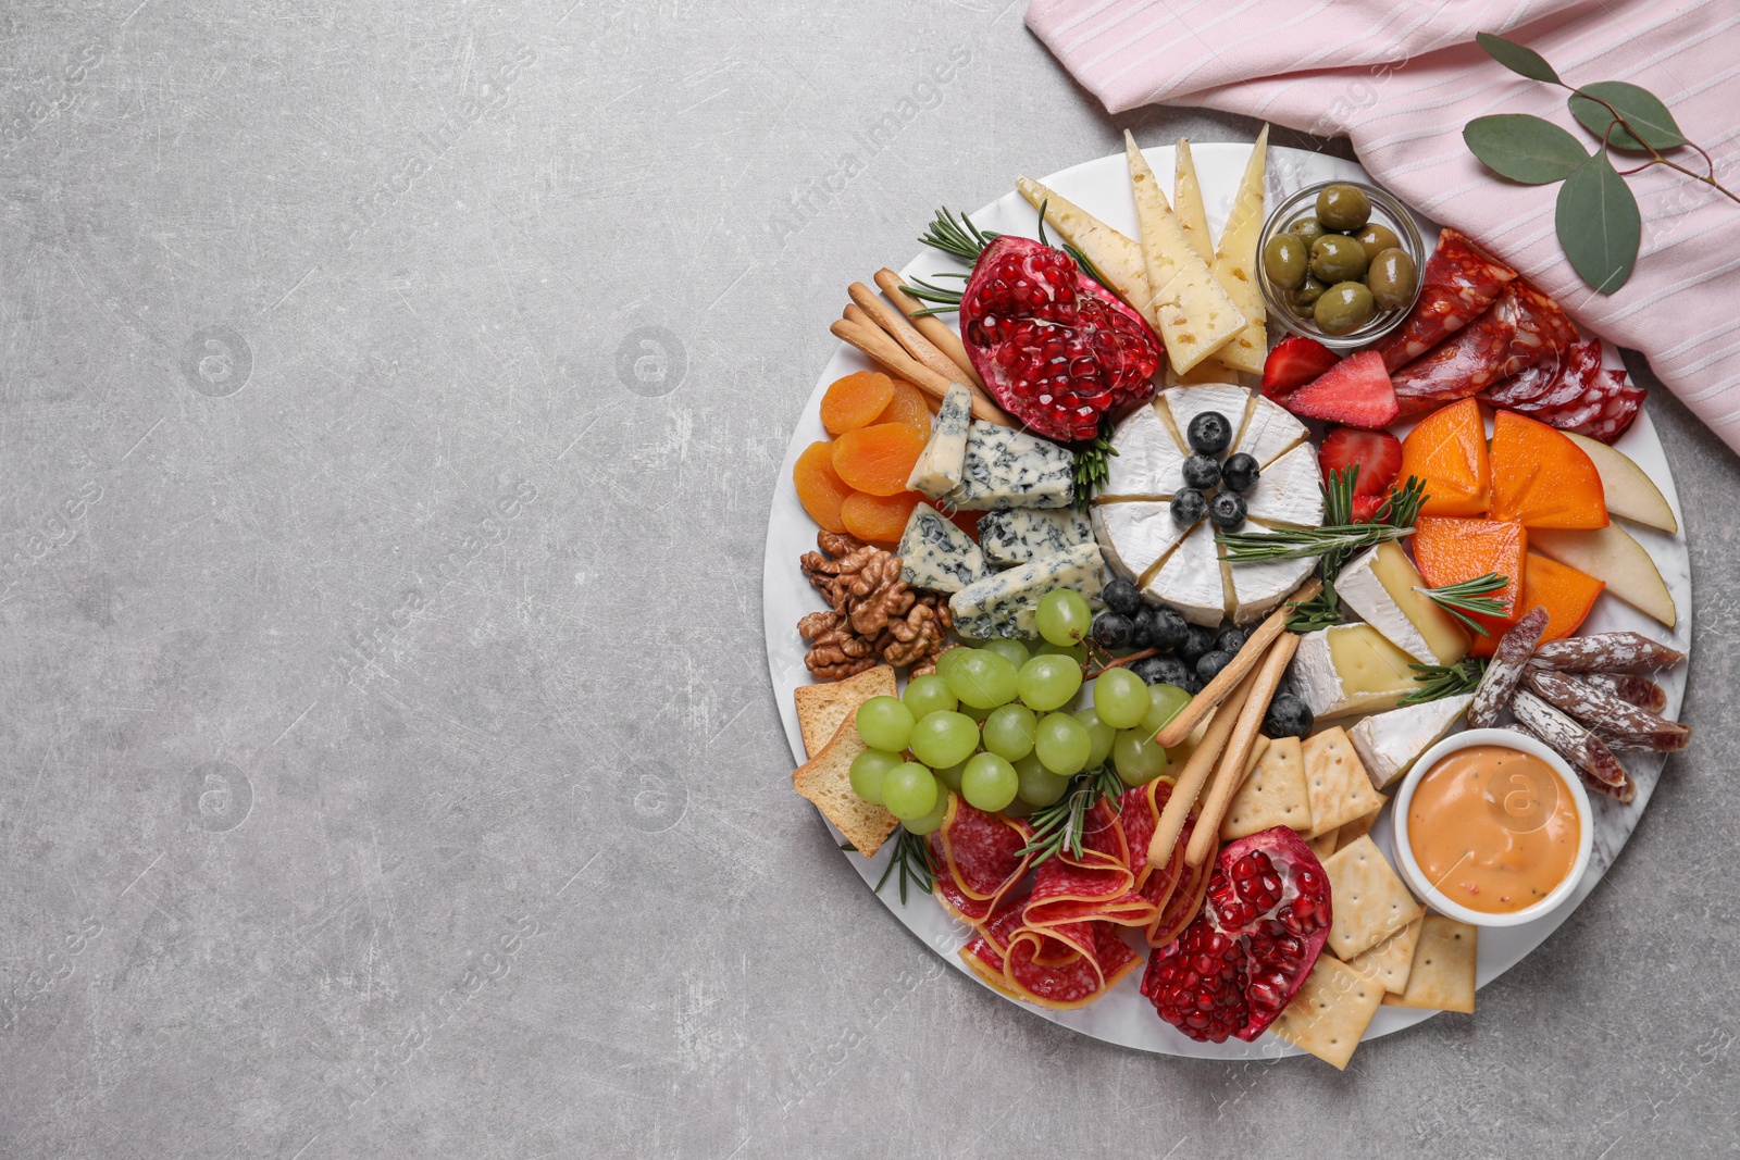
M 1376 186 L 1322 181 L 1284 200 L 1256 243 L 1268 313 L 1329 350 L 1366 346 L 1420 297 L 1425 245 L 1413 214 Z

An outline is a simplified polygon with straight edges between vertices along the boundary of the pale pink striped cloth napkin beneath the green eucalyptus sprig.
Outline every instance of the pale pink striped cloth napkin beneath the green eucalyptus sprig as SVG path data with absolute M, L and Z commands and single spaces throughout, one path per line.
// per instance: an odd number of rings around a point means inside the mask
M 1601 296 L 1559 249 L 1559 186 L 1503 181 L 1462 141 L 1476 117 L 1535 113 L 1592 144 L 1563 89 L 1507 71 L 1474 43 L 1477 31 L 1502 33 L 1568 83 L 1629 80 L 1655 92 L 1733 190 L 1740 3 L 1034 0 L 1027 24 L 1114 113 L 1199 104 L 1350 137 L 1380 184 L 1510 263 L 1587 330 L 1643 351 L 1740 450 L 1740 205 L 1663 167 L 1630 177 L 1643 250 L 1630 282 Z M 1691 150 L 1674 160 L 1702 167 Z

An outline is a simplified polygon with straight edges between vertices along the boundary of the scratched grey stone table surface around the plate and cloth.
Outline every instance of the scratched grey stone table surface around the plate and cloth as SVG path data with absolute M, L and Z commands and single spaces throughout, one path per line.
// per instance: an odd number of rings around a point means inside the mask
M 1110 1049 L 792 795 L 762 534 L 846 282 L 1253 132 L 1020 16 L 0 9 L 0 1157 L 1735 1150 L 1740 470 L 1660 393 L 1698 744 L 1477 1017 Z

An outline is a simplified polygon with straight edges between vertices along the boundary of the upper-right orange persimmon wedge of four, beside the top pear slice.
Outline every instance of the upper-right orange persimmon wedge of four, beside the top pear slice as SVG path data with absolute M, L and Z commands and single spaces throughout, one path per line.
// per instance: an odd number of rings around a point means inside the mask
M 1606 527 L 1601 473 L 1564 431 L 1500 410 L 1493 419 L 1491 517 L 1524 527 Z

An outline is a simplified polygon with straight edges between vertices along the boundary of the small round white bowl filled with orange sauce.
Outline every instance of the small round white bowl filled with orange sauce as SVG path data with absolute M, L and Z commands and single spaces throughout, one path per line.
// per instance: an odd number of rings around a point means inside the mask
M 1402 880 L 1427 906 L 1517 927 L 1576 889 L 1594 847 L 1589 793 L 1535 737 L 1470 729 L 1427 750 L 1392 812 Z

